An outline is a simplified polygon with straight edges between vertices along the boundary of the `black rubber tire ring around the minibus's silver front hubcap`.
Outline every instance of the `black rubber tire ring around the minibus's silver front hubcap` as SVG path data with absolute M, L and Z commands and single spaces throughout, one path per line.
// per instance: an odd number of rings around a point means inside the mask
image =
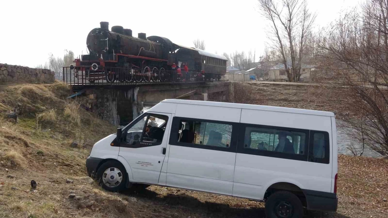
M 112 168 L 116 168 L 116 169 L 120 170 L 121 176 L 122 176 L 121 182 L 116 187 L 109 187 L 103 181 L 103 176 L 106 176 L 106 175 L 104 175 L 105 171 L 108 169 L 112 169 Z M 102 188 L 104 188 L 105 190 L 111 191 L 111 192 L 118 192 L 118 191 L 126 189 L 127 179 L 128 179 L 127 173 L 126 173 L 124 166 L 121 165 L 121 163 L 119 163 L 117 161 L 107 161 L 107 162 L 103 163 L 99 167 L 99 169 L 97 170 L 97 182 L 99 183 L 99 185 Z

